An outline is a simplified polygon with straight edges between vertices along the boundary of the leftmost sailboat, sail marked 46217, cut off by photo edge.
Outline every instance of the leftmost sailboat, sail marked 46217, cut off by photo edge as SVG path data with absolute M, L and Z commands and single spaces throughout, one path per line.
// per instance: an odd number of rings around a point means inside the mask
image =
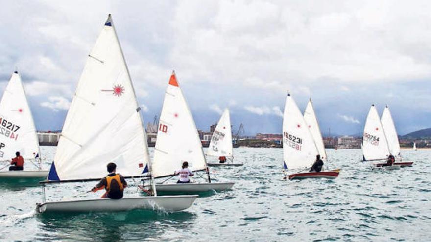
M 0 171 L 0 178 L 38 178 L 48 175 L 48 170 L 41 169 L 36 127 L 21 76 L 15 71 L 0 102 L 0 160 L 7 162 L 1 169 L 9 166 L 17 151 L 25 163 L 32 163 L 37 170 L 24 167 L 24 171 Z

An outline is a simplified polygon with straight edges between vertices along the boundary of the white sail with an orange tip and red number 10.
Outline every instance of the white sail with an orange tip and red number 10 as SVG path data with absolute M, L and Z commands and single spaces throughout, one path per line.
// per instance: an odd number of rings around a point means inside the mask
M 178 85 L 175 72 L 169 79 L 158 128 L 152 162 L 154 177 L 173 175 L 184 161 L 189 163 L 192 171 L 206 168 L 192 112 Z

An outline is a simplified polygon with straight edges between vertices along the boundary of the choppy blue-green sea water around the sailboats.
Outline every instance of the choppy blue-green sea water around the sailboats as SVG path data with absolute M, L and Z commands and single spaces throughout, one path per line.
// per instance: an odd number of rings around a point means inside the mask
M 55 147 L 42 147 L 46 167 Z M 282 150 L 235 149 L 243 167 L 213 168 L 214 180 L 234 190 L 197 198 L 184 212 L 148 211 L 36 215 L 41 188 L 0 183 L 0 240 L 61 241 L 429 241 L 431 151 L 403 151 L 410 168 L 373 170 L 360 150 L 328 150 L 335 180 L 285 181 Z M 132 184 L 130 181 L 129 184 Z M 135 184 L 138 184 L 136 181 Z M 94 182 L 49 186 L 67 199 Z M 126 196 L 140 195 L 130 186 Z M 98 197 L 90 194 L 88 197 Z

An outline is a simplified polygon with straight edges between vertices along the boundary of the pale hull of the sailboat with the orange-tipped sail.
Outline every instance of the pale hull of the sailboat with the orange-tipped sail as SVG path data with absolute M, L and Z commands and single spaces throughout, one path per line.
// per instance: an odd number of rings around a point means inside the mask
M 229 190 L 235 182 L 156 184 L 157 192 L 199 193 Z

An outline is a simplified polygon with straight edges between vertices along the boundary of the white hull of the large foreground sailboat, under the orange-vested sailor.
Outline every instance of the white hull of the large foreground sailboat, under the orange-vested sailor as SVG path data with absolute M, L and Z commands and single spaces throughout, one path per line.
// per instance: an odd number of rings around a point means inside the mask
M 192 206 L 197 195 L 157 196 L 138 198 L 99 198 L 45 202 L 36 205 L 38 213 L 44 212 L 119 212 L 133 209 L 181 211 Z

